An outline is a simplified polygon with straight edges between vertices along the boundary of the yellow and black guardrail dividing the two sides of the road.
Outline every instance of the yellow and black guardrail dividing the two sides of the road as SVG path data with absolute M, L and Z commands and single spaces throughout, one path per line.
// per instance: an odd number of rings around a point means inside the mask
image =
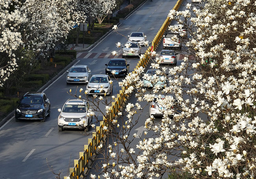
M 178 0 L 174 5 L 173 9 L 178 10 L 180 4 L 182 4 L 182 0 Z M 167 17 L 163 22 L 161 28 L 159 29 L 158 33 L 154 37 L 151 48 L 149 47 L 147 49 L 144 58 L 141 58 L 139 60 L 136 68 L 134 68 L 132 73 L 136 73 L 135 70 L 138 69 L 140 66 L 142 66 L 143 68 L 147 66 L 148 62 L 150 61 L 150 51 L 155 51 L 157 49 L 161 42 L 163 34 L 165 33 L 170 22 L 170 18 Z M 70 179 L 79 179 L 80 176 L 83 176 L 85 174 L 85 170 L 89 170 L 89 161 L 92 160 L 92 156 L 97 152 L 97 147 L 100 145 L 101 142 L 104 142 L 104 137 L 106 137 L 106 130 L 104 130 L 103 127 L 108 127 L 108 121 L 112 121 L 116 117 L 118 111 L 128 99 L 128 95 L 125 93 L 125 90 L 127 88 L 128 87 L 122 87 L 122 90 L 120 90 L 119 94 L 117 94 L 115 101 L 112 102 L 112 106 L 110 107 L 111 112 L 109 112 L 106 117 L 103 117 L 103 120 L 100 121 L 100 126 L 96 126 L 96 132 L 93 132 L 92 138 L 88 139 L 88 144 L 84 145 L 84 152 L 79 152 L 79 159 L 74 160 L 74 167 L 69 169 Z M 64 177 L 64 179 L 67 178 L 68 177 Z

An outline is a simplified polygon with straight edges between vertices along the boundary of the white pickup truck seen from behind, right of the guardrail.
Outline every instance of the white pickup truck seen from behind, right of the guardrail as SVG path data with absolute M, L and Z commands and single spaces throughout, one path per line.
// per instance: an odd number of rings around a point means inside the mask
M 178 40 L 172 39 L 175 36 L 178 38 Z M 169 49 L 173 47 L 178 47 L 181 49 L 181 37 L 178 33 L 167 32 L 163 37 L 163 49 Z

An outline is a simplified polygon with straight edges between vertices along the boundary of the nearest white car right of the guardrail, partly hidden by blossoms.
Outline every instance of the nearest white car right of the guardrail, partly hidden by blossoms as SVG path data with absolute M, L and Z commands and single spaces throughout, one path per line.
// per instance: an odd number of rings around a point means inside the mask
M 167 96 L 161 95 L 160 99 L 164 100 L 165 98 L 167 98 L 167 100 L 171 101 L 173 99 L 173 96 L 171 96 L 171 95 L 167 95 Z M 171 110 L 171 109 L 173 109 L 173 107 L 168 108 L 168 106 L 162 106 L 161 104 L 159 104 L 157 102 L 157 99 L 158 99 L 158 95 L 155 95 L 154 100 L 152 102 L 150 102 L 149 116 L 153 115 L 154 117 L 156 117 L 156 116 L 157 117 L 163 117 L 163 111 Z M 176 100 L 175 100 L 175 102 L 176 102 Z M 173 116 L 173 114 L 170 115 L 170 116 Z

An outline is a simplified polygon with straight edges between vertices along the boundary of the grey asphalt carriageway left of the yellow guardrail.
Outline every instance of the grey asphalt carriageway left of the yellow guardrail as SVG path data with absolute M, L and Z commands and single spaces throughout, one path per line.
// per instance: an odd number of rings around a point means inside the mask
M 122 20 L 117 31 L 126 36 L 133 31 L 142 31 L 151 42 L 175 3 L 176 0 L 148 1 L 126 20 Z M 113 50 L 119 51 L 115 47 L 117 42 L 124 44 L 126 37 L 115 32 L 110 33 L 89 53 L 79 53 L 77 64 L 88 65 L 92 74 L 104 74 L 104 64 L 111 58 L 109 54 Z M 143 47 L 143 51 L 145 49 L 146 47 Z M 127 58 L 127 60 L 132 71 L 138 58 Z M 179 63 L 180 61 L 177 65 Z M 116 95 L 120 87 L 117 80 L 112 80 L 113 95 Z M 46 159 L 54 172 L 63 173 L 62 177 L 67 175 L 69 163 L 70 167 L 74 166 L 74 159 L 79 158 L 79 152 L 83 151 L 83 145 L 87 144 L 93 129 L 91 128 L 87 133 L 82 130 L 58 131 L 58 108 L 62 108 L 65 101 L 72 98 L 67 94 L 70 88 L 75 91 L 76 85 L 67 85 L 66 73 L 64 73 L 45 89 L 51 102 L 51 116 L 46 118 L 46 122 L 15 122 L 12 119 L 0 128 L 0 179 L 54 179 L 55 176 L 49 170 Z M 78 89 L 80 88 L 85 89 L 85 85 L 79 85 Z M 100 108 L 104 109 L 104 105 Z M 145 115 L 147 112 L 145 111 Z M 144 122 L 139 125 L 144 125 Z

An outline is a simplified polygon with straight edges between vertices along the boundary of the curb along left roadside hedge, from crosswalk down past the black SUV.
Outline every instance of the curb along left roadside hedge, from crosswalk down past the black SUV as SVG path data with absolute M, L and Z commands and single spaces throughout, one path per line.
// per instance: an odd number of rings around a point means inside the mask
M 44 84 L 40 89 L 37 90 L 37 92 L 41 92 L 43 91 L 47 86 L 49 86 L 49 84 L 51 84 L 52 82 L 54 82 L 57 78 L 59 78 L 64 71 L 66 71 L 67 69 L 69 69 L 75 62 L 77 62 L 76 59 L 74 59 L 70 64 L 68 64 L 65 68 L 63 68 L 57 75 L 55 75 L 52 79 L 50 79 L 46 84 Z M 11 113 L 9 113 L 2 121 L 0 121 L 0 127 L 3 126 L 9 119 L 11 119 L 12 117 L 14 117 L 15 115 L 15 110 L 11 111 Z

